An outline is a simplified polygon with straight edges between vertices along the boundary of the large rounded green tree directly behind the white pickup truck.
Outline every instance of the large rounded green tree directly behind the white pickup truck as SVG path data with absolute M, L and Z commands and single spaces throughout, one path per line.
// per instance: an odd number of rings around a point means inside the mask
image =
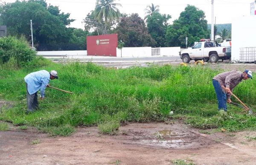
M 201 38 L 206 38 L 209 31 L 207 20 L 204 18 L 205 15 L 202 10 L 195 6 L 186 6 L 185 11 L 180 13 L 180 17 L 167 28 L 167 45 L 185 47 L 186 37 L 188 37 L 188 45 L 192 45 Z

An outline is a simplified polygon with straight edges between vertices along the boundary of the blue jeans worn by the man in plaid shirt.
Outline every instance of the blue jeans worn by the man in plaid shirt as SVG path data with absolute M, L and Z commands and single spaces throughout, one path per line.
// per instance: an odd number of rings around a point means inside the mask
M 212 80 L 213 87 L 215 89 L 215 93 L 218 99 L 218 109 L 227 111 L 227 96 L 226 93 L 222 92 L 221 85 L 217 80 Z

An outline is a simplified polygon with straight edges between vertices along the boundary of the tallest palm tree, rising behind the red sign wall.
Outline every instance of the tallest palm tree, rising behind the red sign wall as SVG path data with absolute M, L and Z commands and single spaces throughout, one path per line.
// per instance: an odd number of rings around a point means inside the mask
M 105 28 L 103 34 L 107 34 L 108 20 L 112 21 L 115 18 L 119 18 L 120 12 L 117 6 L 122 6 L 119 3 L 114 3 L 115 0 L 97 0 L 94 10 L 95 18 L 99 21 L 104 19 Z

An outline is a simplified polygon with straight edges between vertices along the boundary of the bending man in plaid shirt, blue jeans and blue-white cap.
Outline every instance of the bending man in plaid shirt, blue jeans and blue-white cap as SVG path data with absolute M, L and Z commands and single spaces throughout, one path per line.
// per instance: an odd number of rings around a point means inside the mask
M 239 82 L 247 80 L 248 78 L 253 78 L 253 74 L 247 69 L 244 72 L 237 70 L 223 72 L 212 78 L 212 84 L 218 99 L 219 110 L 227 111 L 226 101 L 228 103 L 232 102 L 230 99 L 230 92 L 232 92 L 233 88 L 236 87 Z M 221 86 L 224 86 L 225 89 L 221 88 Z

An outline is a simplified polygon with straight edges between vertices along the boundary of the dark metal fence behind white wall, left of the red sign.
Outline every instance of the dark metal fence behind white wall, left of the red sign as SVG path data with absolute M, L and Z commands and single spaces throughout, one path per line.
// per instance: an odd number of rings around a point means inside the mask
M 62 50 L 86 50 L 85 44 L 58 43 L 35 45 L 37 51 L 62 51 Z

